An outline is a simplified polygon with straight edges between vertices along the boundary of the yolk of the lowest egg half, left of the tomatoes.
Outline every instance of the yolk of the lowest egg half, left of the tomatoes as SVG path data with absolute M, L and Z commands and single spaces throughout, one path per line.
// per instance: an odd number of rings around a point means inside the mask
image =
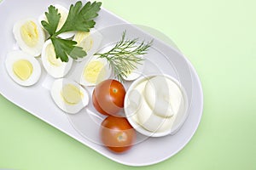
M 84 94 L 73 84 L 65 85 L 62 88 L 61 96 L 69 105 L 76 105 L 84 98 Z

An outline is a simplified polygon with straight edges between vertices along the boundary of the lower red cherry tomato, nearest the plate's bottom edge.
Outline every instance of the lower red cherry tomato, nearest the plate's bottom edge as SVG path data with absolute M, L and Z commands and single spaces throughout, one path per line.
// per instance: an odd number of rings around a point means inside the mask
M 136 139 L 136 131 L 125 117 L 108 116 L 100 130 L 102 143 L 115 153 L 129 150 Z

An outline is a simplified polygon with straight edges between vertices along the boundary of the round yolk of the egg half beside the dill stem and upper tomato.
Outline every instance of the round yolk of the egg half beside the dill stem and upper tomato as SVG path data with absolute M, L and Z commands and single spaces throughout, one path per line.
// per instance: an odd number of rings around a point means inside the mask
M 101 61 L 90 61 L 90 63 L 84 69 L 84 79 L 87 82 L 101 82 L 105 76 L 106 71 Z

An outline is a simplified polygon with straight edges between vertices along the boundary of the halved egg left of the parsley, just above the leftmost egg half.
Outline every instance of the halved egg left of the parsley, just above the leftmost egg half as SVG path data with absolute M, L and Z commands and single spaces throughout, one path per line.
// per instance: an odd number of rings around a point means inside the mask
M 13 28 L 20 49 L 32 56 L 39 56 L 45 41 L 44 31 L 37 20 L 19 20 Z

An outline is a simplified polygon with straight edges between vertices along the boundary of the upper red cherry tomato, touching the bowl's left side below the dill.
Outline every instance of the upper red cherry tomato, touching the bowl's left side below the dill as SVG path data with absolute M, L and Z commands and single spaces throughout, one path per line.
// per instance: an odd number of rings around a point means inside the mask
M 92 102 L 97 111 L 103 115 L 117 116 L 124 107 L 125 87 L 117 80 L 108 79 L 96 85 Z

